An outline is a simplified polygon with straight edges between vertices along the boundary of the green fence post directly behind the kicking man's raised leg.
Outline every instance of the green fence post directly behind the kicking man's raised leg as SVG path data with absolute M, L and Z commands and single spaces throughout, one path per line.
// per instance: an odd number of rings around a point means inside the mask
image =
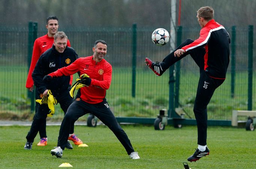
M 182 26 L 177 29 L 177 46 L 181 44 Z M 179 107 L 179 81 L 180 81 L 181 61 L 176 62 L 176 77 L 175 77 L 175 108 Z

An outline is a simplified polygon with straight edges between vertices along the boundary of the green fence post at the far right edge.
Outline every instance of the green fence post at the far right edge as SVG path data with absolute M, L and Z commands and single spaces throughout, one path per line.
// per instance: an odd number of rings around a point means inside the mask
M 248 27 L 248 110 L 252 110 L 253 89 L 253 25 Z

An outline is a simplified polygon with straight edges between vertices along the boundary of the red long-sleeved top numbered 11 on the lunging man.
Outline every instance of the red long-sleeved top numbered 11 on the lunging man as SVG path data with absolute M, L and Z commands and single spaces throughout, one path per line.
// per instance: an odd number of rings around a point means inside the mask
M 78 58 L 71 65 L 60 68 L 48 75 L 60 77 L 63 75 L 69 76 L 77 72 L 80 72 L 80 75 L 86 73 L 92 79 L 89 87 L 85 86 L 79 89 L 81 93 L 79 97 L 90 104 L 102 102 L 106 96 L 106 90 L 110 87 L 112 66 L 105 59 L 96 64 L 93 56 L 87 56 Z

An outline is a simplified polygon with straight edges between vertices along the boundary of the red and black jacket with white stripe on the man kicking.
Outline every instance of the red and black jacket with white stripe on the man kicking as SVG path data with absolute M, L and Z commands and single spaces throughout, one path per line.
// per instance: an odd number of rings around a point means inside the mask
M 226 29 L 210 20 L 200 31 L 200 37 L 182 47 L 186 52 L 197 47 L 205 47 L 204 70 L 215 79 L 225 79 L 229 65 L 230 37 Z

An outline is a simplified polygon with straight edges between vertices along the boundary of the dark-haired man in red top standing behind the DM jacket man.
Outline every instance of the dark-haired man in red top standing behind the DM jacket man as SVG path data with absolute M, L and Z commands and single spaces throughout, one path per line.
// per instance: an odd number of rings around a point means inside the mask
M 50 49 L 53 46 L 54 42 L 54 35 L 57 33 L 58 28 L 59 28 L 59 22 L 58 18 L 56 16 L 49 16 L 46 19 L 46 25 L 45 27 L 47 28 L 48 32 L 46 35 L 39 37 L 38 39 L 35 40 L 34 46 L 33 46 L 33 53 L 32 53 L 32 59 L 31 59 L 31 64 L 29 68 L 29 73 L 27 75 L 27 82 L 26 82 L 26 88 L 29 89 L 30 92 L 34 90 L 34 82 L 32 79 L 32 73 L 35 69 L 36 63 L 39 59 L 39 57 L 47 50 Z M 68 40 L 67 46 L 70 47 L 70 42 Z M 71 86 L 73 80 L 73 76 L 70 76 L 70 81 L 69 84 Z M 36 93 L 36 92 L 35 92 Z M 38 99 L 38 98 L 36 98 Z M 38 109 L 38 104 L 36 102 L 36 107 L 35 111 Z M 39 135 L 40 135 L 40 141 L 37 144 L 38 146 L 45 146 L 47 145 L 47 135 L 46 135 L 46 119 L 42 123 L 42 126 L 39 129 Z M 77 136 L 72 135 L 69 140 L 77 141 L 80 140 L 77 138 Z

